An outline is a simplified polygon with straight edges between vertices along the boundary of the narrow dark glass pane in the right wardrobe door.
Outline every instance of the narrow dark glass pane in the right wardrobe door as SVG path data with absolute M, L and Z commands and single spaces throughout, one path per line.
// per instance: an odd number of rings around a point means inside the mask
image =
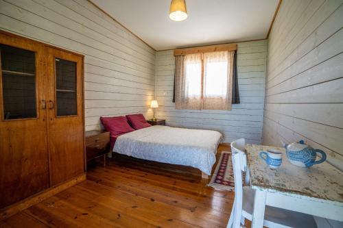
M 56 114 L 77 115 L 76 62 L 55 59 L 56 66 Z

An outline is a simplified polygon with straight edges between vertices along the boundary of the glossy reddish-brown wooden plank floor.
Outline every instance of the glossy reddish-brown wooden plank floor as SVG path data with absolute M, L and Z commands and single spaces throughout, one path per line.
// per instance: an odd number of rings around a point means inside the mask
M 105 168 L 88 169 L 86 181 L 0 227 L 226 227 L 234 193 L 208 181 L 195 168 L 114 155 Z

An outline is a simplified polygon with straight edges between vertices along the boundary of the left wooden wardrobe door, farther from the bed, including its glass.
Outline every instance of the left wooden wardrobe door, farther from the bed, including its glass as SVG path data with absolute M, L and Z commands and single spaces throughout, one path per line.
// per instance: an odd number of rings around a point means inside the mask
M 49 188 L 44 55 L 0 32 L 0 208 Z

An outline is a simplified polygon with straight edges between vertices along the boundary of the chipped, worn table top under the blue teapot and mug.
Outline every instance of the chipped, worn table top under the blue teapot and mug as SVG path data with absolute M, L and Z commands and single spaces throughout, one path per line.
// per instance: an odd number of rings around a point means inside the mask
M 283 152 L 278 169 L 269 168 L 259 157 L 260 151 L 275 149 Z M 327 162 L 309 168 L 291 164 L 282 147 L 246 144 L 250 184 L 252 188 L 298 197 L 311 197 L 343 205 L 343 173 Z

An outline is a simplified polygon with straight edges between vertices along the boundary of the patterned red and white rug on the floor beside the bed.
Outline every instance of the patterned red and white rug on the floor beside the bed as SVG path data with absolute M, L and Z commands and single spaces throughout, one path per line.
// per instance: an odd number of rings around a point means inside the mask
M 235 191 L 233 163 L 231 161 L 230 152 L 222 151 L 217 167 L 215 167 L 215 172 L 207 186 L 211 186 L 219 190 Z

